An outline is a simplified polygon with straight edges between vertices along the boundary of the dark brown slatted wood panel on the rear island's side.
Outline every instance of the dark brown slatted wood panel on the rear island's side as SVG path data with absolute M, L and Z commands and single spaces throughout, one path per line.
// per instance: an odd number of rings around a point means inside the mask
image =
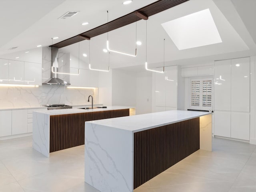
M 50 152 L 84 144 L 84 122 L 129 116 L 129 109 L 50 116 Z

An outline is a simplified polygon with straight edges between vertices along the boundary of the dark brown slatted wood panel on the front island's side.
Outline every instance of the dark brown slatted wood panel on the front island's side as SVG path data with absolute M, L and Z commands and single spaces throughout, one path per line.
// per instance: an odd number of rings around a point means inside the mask
M 134 133 L 134 189 L 200 148 L 199 117 Z

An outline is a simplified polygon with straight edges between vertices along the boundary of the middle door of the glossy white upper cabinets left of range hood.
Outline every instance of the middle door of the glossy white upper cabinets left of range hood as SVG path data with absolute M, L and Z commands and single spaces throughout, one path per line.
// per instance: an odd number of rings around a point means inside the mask
M 11 84 L 24 84 L 24 62 L 9 60 L 9 80 Z

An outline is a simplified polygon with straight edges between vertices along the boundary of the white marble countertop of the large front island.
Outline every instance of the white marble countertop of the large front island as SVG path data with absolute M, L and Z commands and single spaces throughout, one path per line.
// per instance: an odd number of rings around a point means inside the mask
M 142 130 L 181 122 L 207 114 L 211 114 L 211 112 L 171 110 L 119 118 L 94 120 L 88 121 L 86 123 L 119 128 L 132 132 L 139 132 Z

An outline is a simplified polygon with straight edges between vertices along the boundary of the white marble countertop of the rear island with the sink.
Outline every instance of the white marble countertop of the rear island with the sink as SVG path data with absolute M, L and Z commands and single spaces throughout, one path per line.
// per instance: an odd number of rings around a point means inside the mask
M 135 107 L 130 106 L 107 106 L 107 108 L 98 108 L 98 109 L 58 109 L 58 110 L 47 110 L 47 111 L 36 111 L 41 114 L 47 115 L 62 115 L 62 114 L 73 114 L 73 113 L 86 113 L 94 111 L 108 111 L 108 110 L 118 110 L 118 109 L 130 109 Z

